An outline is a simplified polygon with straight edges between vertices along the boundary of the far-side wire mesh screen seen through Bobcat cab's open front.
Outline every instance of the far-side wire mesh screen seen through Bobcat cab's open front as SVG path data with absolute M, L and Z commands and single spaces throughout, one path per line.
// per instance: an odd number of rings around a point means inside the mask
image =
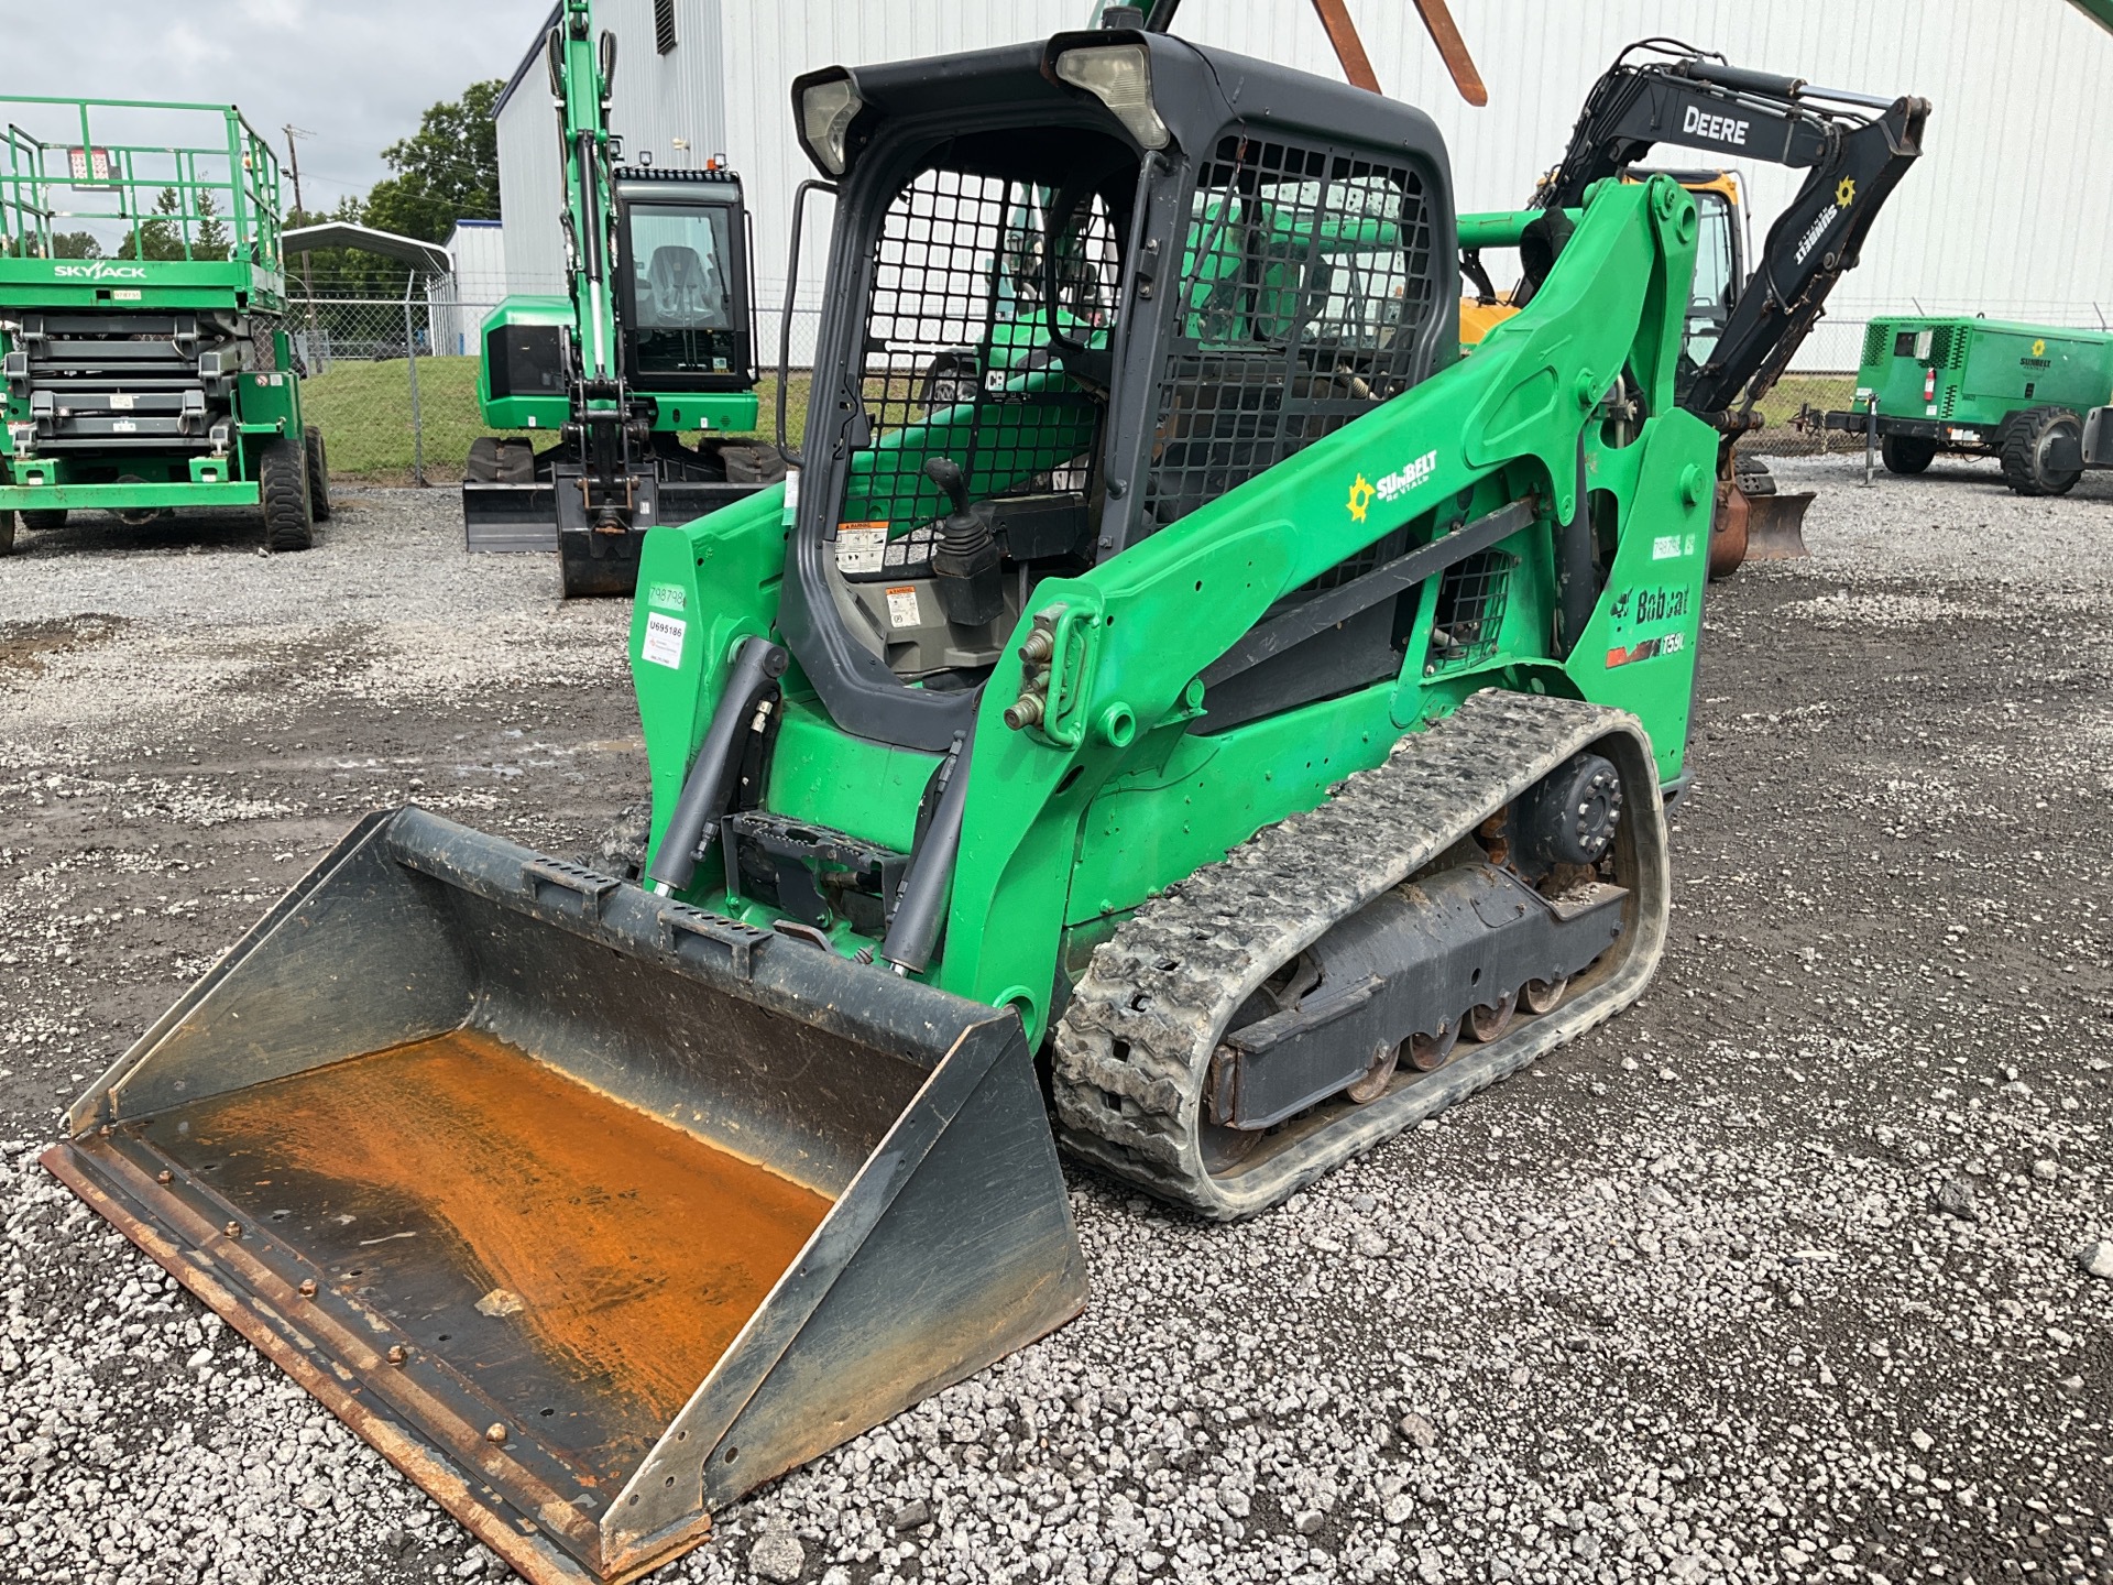
M 961 469 L 972 501 L 1092 490 L 1120 285 L 1111 199 L 1128 201 L 1135 163 L 1111 171 L 1090 133 L 1040 139 L 1048 180 L 964 169 L 947 146 L 887 205 L 864 315 L 866 433 L 841 511 L 864 535 L 839 533 L 847 577 L 883 571 L 881 528 L 890 575 L 919 558 L 896 541 L 949 509 L 932 459 Z

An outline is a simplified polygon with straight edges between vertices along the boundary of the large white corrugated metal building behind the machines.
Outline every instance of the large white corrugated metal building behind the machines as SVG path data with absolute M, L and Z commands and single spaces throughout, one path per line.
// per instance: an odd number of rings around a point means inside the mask
M 655 49 L 655 8 L 674 46 Z M 983 49 L 1084 25 L 1090 0 L 598 0 L 619 36 L 615 129 L 655 163 L 672 148 L 725 152 L 756 222 L 759 302 L 775 313 L 792 188 L 814 175 L 792 137 L 790 80 L 828 63 Z M 1460 209 L 1509 209 L 1557 161 L 1585 91 L 1623 44 L 1669 34 L 1739 66 L 1859 93 L 1933 101 L 1921 165 L 1878 220 L 1864 264 L 1830 300 L 1838 330 L 1883 311 L 1974 313 L 2096 325 L 2113 321 L 2113 188 L 2079 180 L 2077 150 L 2113 148 L 2113 38 L 2064 0 L 1452 0 L 1490 85 L 1460 101 L 1401 0 L 1350 0 L 1386 91 L 1445 133 Z M 1245 55 L 1338 74 L 1306 0 L 1185 0 L 1181 34 Z M 556 125 L 541 40 L 499 112 L 507 268 L 513 290 L 554 290 Z M 1661 154 L 1665 163 L 1680 156 Z M 1747 169 L 1756 241 L 1796 190 L 1777 167 Z M 816 209 L 824 222 L 828 205 Z M 818 298 L 820 243 L 801 264 Z M 1813 338 L 1805 361 L 1855 363 L 1855 336 Z M 775 323 L 763 325 L 775 347 Z M 1817 359 L 1817 361 L 1815 361 Z

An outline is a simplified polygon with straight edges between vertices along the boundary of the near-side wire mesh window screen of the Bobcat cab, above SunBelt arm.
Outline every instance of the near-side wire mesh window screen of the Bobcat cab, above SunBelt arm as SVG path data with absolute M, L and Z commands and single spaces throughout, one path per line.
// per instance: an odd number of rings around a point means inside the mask
M 1145 509 L 1166 526 L 1405 391 L 1437 311 L 1407 165 L 1226 135 L 1198 173 Z

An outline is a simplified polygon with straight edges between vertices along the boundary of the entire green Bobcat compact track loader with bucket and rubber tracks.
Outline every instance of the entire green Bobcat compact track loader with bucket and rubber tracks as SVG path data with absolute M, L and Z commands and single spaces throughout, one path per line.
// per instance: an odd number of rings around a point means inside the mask
M 1059 1141 L 1266 1213 L 1659 962 L 1693 197 L 1462 355 L 1538 213 L 1109 21 L 794 82 L 803 467 L 644 535 L 642 873 L 370 816 L 46 1156 L 539 1585 L 1078 1314 Z

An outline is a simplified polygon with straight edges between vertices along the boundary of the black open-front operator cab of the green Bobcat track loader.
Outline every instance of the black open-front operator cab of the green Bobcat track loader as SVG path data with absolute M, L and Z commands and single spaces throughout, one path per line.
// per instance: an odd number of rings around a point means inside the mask
M 839 723 L 928 750 L 974 719 L 1037 583 L 1209 507 L 1458 340 L 1420 112 L 1166 34 L 968 61 L 942 87 L 875 66 L 792 91 L 839 188 L 780 628 Z M 1338 636 L 1340 678 L 1283 657 L 1299 687 L 1399 670 L 1390 632 Z

